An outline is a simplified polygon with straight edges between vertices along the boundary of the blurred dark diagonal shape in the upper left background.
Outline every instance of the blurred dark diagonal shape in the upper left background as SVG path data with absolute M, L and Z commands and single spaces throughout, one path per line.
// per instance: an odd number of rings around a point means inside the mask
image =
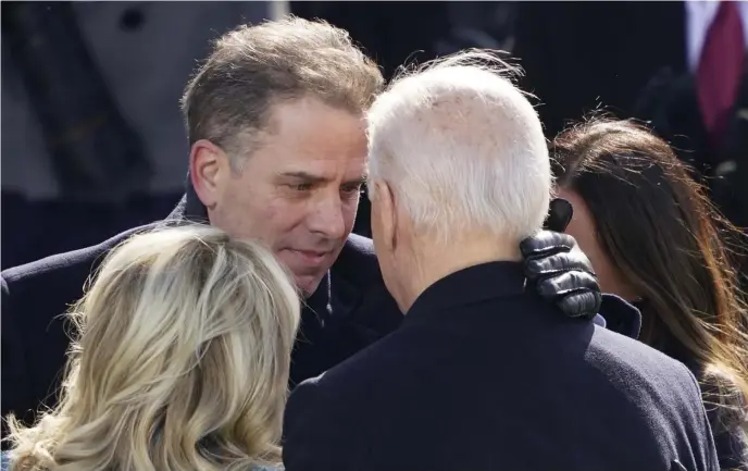
M 2 42 L 21 71 L 62 196 L 120 201 L 149 160 L 94 62 L 68 2 L 3 2 Z

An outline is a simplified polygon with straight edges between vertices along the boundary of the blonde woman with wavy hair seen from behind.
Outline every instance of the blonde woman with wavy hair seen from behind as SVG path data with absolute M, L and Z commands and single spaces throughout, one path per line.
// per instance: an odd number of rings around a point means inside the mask
M 258 470 L 278 439 L 300 303 L 253 243 L 210 226 L 136 235 L 68 314 L 60 406 L 12 417 L 10 470 Z

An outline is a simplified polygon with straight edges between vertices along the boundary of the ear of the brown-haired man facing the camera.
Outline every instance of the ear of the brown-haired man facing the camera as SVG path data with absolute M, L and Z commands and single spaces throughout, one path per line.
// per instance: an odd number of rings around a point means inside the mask
M 200 139 L 192 144 L 189 152 L 189 177 L 200 201 L 207 207 L 215 206 L 221 181 L 226 177 L 228 157 L 210 140 Z

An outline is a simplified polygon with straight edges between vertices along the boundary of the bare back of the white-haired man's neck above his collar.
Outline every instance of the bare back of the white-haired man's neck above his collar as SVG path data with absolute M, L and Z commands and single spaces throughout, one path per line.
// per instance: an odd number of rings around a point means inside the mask
M 417 250 L 413 253 L 413 263 L 401 277 L 402 299 L 399 303 L 404 312 L 426 288 L 452 273 L 488 262 L 522 260 L 519 244 L 501 241 L 496 237 L 465 238 L 448 246 L 421 240 L 414 247 Z

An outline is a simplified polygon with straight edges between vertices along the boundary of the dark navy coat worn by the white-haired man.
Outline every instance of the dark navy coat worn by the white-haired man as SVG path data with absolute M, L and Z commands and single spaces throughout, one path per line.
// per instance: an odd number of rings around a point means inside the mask
M 558 315 L 523 282 L 510 262 L 451 274 L 396 332 L 299 385 L 287 471 L 718 469 L 685 365 Z

